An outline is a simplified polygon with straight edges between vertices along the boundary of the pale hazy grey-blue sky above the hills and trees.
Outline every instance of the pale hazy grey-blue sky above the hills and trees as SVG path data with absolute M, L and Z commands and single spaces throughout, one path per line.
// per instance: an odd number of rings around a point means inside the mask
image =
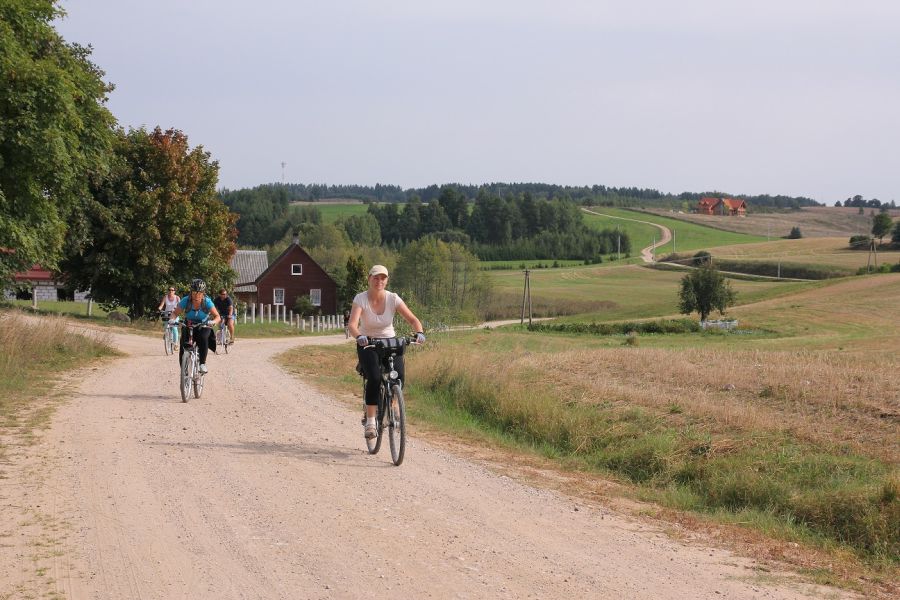
M 62 0 L 124 127 L 219 186 L 900 202 L 896 0 Z M 284 163 L 284 166 L 282 166 Z

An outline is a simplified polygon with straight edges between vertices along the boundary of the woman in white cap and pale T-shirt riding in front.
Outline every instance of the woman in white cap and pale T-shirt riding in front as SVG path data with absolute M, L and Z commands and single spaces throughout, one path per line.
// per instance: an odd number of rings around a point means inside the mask
M 378 404 L 378 392 L 381 386 L 381 355 L 375 348 L 366 348 L 373 340 L 394 338 L 394 314 L 406 319 L 416 332 L 416 342 L 425 343 L 422 323 L 413 314 L 400 296 L 387 291 L 388 271 L 383 265 L 375 265 L 369 269 L 369 289 L 360 292 L 353 298 L 348 329 L 356 338 L 356 355 L 366 378 L 366 422 L 365 436 L 374 438 L 375 411 Z M 402 350 L 402 349 L 401 349 Z M 403 355 L 397 354 L 394 359 L 394 370 L 404 378 Z

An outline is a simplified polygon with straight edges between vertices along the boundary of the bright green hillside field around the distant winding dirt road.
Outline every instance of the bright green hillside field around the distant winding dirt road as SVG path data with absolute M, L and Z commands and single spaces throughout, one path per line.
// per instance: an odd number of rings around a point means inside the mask
M 639 221 L 648 221 L 657 223 L 664 227 L 668 227 L 675 233 L 674 249 L 678 252 L 689 250 L 706 250 L 717 246 L 747 244 L 760 241 L 766 241 L 765 237 L 747 235 L 743 233 L 734 233 L 730 231 L 722 231 L 711 227 L 704 227 L 694 223 L 679 221 L 670 217 L 664 217 L 655 213 L 642 210 L 628 210 L 623 208 L 606 208 L 606 207 L 588 207 L 597 213 L 610 215 L 610 218 L 597 215 L 584 214 L 585 223 L 598 229 L 615 229 L 619 225 L 625 231 L 629 232 L 631 237 L 631 253 L 638 254 L 641 248 L 645 248 L 653 243 L 654 239 L 659 241 L 659 229 L 651 225 L 643 223 L 634 223 L 626 219 L 636 219 Z M 655 236 L 655 238 L 654 238 Z M 657 255 L 668 254 L 673 252 L 673 244 L 669 242 L 659 246 L 655 253 Z

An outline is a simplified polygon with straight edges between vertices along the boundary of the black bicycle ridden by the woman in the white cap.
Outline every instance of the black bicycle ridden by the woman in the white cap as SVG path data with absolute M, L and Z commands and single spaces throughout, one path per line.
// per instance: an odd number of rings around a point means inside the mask
M 406 451 L 406 404 L 403 399 L 403 382 L 394 370 L 394 357 L 402 352 L 404 346 L 415 344 L 415 338 L 374 339 L 365 348 L 384 350 L 381 354 L 381 387 L 375 412 L 375 437 L 366 438 L 369 454 L 377 454 L 381 449 L 381 436 L 384 433 L 387 419 L 388 440 L 391 445 L 391 460 L 396 466 L 403 462 Z M 357 372 L 363 376 L 363 398 L 366 395 L 366 378 L 360 365 Z M 365 424 L 365 414 L 363 414 Z

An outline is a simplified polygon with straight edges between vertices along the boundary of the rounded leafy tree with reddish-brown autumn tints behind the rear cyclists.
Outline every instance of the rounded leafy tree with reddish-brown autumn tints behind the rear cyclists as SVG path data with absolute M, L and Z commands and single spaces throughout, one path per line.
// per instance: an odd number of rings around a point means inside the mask
M 119 131 L 110 175 L 90 190 L 84 243 L 63 265 L 71 283 L 132 316 L 173 283 L 232 283 L 236 216 L 216 198 L 218 171 L 178 130 Z

